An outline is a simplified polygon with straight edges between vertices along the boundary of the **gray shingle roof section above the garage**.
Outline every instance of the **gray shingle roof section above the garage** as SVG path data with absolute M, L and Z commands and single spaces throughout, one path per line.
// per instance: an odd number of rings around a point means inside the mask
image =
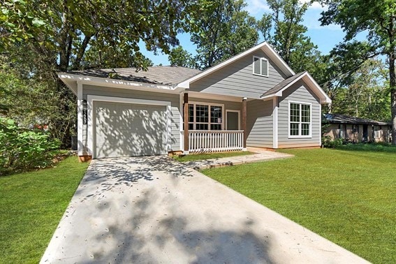
M 102 70 L 71 71 L 69 73 L 132 82 L 145 82 L 156 85 L 177 85 L 197 75 L 200 71 L 179 66 L 153 66 L 148 67 L 147 71 L 138 72 L 136 72 L 135 68 L 108 68 Z

